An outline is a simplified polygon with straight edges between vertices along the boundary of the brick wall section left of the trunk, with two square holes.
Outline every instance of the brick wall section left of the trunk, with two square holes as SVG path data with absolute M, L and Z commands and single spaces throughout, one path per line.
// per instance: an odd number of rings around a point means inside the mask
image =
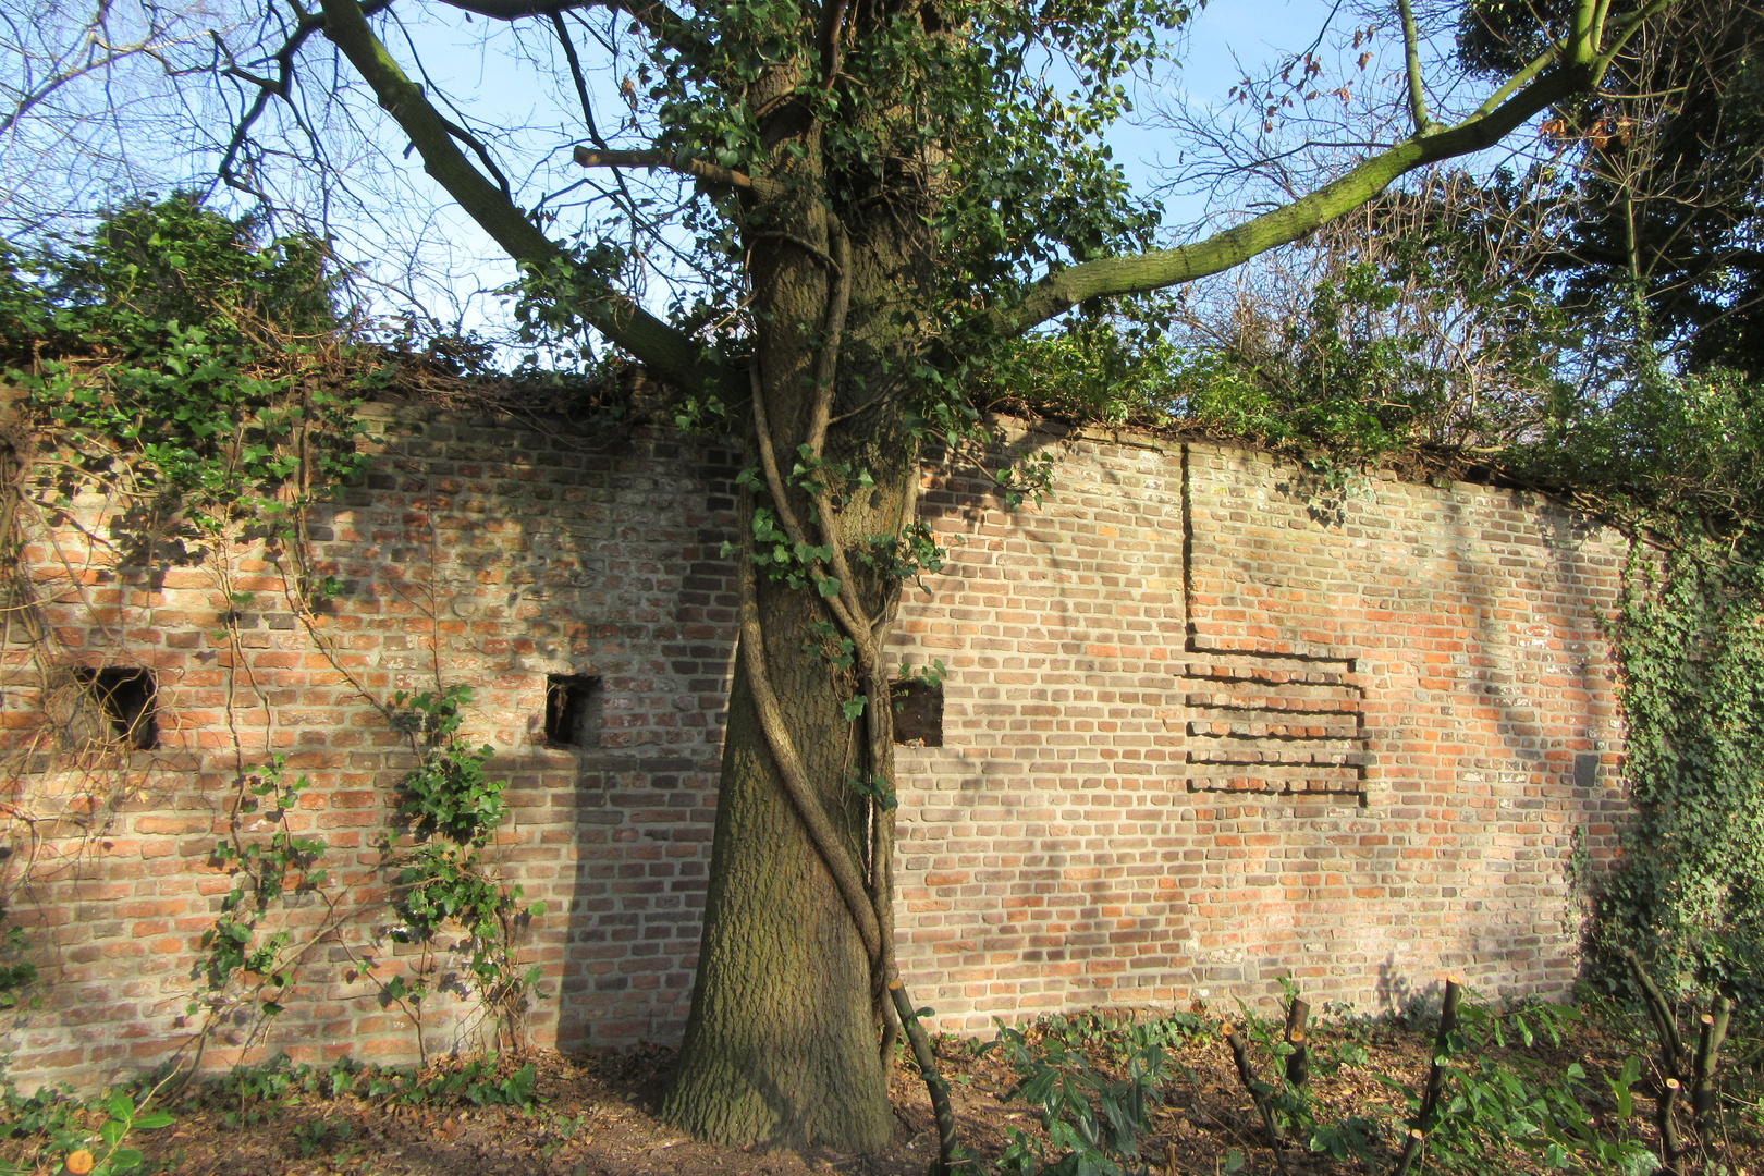
M 46 980 L 42 1007 L 12 1016 L 23 1088 L 191 1047 L 201 936 L 228 889 L 210 855 L 242 770 L 277 753 L 312 781 L 289 823 L 328 839 L 346 917 L 286 1012 L 222 1024 L 205 1063 L 415 1058 L 409 1017 L 367 975 L 413 963 L 388 936 L 374 843 L 415 756 L 379 705 L 455 682 L 476 693 L 466 733 L 510 781 L 490 859 L 549 908 L 522 942 L 545 968 L 533 1038 L 679 1035 L 734 642 L 718 554 L 730 455 L 407 406 L 369 416 L 372 473 L 312 511 L 309 568 L 249 536 L 196 562 L 141 562 L 102 541 L 116 502 L 95 495 L 26 520 L 35 599 L 11 601 L 0 649 L 9 915 Z M 340 592 L 307 610 L 302 577 L 335 577 Z M 101 666 L 155 675 L 157 748 L 118 749 L 76 705 L 74 675 Z M 547 746 L 550 675 L 600 679 L 591 746 Z M 339 922 L 326 915 L 309 901 L 289 924 L 310 934 Z M 436 963 L 460 982 L 457 956 Z M 427 1047 L 475 1040 L 475 1009 L 430 996 Z

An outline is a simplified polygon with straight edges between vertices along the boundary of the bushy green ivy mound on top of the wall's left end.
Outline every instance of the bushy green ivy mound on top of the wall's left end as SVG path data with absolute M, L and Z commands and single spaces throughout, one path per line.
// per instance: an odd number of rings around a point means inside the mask
M 60 250 L 0 250 L 0 370 L 72 450 L 69 490 L 127 467 L 134 494 L 182 508 L 180 538 L 213 541 L 284 513 L 302 467 L 360 469 L 351 381 L 321 379 L 326 264 L 323 243 L 259 245 L 192 196 L 129 203 Z

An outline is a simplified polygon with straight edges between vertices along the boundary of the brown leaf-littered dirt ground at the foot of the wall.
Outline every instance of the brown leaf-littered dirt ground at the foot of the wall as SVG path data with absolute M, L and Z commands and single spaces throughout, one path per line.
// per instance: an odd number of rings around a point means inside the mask
M 1088 1024 L 1095 1031 L 1095 1019 Z M 1064 1033 L 1067 1042 L 1074 1040 L 1071 1028 Z M 1085 1042 L 1083 1033 L 1076 1040 Z M 1427 1042 L 1420 1028 L 1411 1031 L 1390 1023 L 1314 1031 L 1316 1056 L 1332 1058 L 1316 1067 L 1312 1077 L 1319 1118 L 1362 1114 L 1383 1120 L 1387 1130 L 1378 1141 L 1378 1172 L 1388 1172 L 1395 1164 L 1401 1091 L 1376 1076 L 1420 1088 L 1429 1065 Z M 1646 1042 L 1633 1035 L 1596 1024 L 1584 1026 L 1568 1046 L 1572 1049 L 1531 1051 L 1531 1056 L 1551 1067 L 1579 1061 L 1595 1090 L 1605 1088 L 1600 1076 L 1616 1074 L 1625 1056 L 1646 1051 Z M 951 1079 L 961 1141 L 983 1160 L 1000 1153 L 1007 1128 L 1037 1130 L 1035 1111 L 1009 1098 L 1016 1076 L 997 1051 L 981 1053 L 972 1042 L 946 1038 L 938 1053 Z M 1106 1067 L 1104 1046 L 1097 1044 L 1092 1056 Z M 1150 1171 L 1166 1176 L 1279 1172 L 1254 1104 L 1219 1035 L 1212 1031 L 1189 1040 L 1171 1051 L 1171 1060 L 1170 1081 L 1152 1114 L 1152 1139 L 1141 1148 L 1141 1160 Z M 166 1109 L 176 1123 L 139 1132 L 131 1143 L 146 1153 L 146 1171 L 191 1176 L 921 1176 L 937 1157 L 930 1102 L 917 1074 L 907 1067 L 896 1074 L 893 1088 L 898 1127 L 893 1144 L 878 1155 L 840 1155 L 824 1150 L 720 1148 L 674 1132 L 656 1118 L 674 1061 L 670 1049 L 639 1047 L 598 1056 L 533 1051 L 505 1060 L 505 1067 L 527 1061 L 538 1068 L 533 1109 L 434 1100 L 397 1105 L 353 1095 L 284 1095 L 277 1102 L 228 1105 L 220 1097 L 206 1095 L 168 1102 Z M 1259 1058 L 1258 1065 L 1267 1068 L 1268 1058 Z M 1635 1091 L 1632 1118 L 1621 1127 L 1612 1121 L 1600 1128 L 1626 1130 L 1630 1137 L 1651 1144 L 1651 1091 L 1644 1077 Z M 1614 1116 L 1614 1105 L 1596 1114 L 1602 1120 Z M 1727 1165 L 1725 1174 L 1764 1174 L 1764 1148 L 1755 1132 L 1741 1135 L 1727 1139 L 1718 1157 Z M 30 1141 L 11 1141 L 0 1146 L 0 1155 L 12 1164 L 23 1162 L 25 1171 L 35 1162 L 44 1176 L 58 1169 L 62 1157 L 42 1148 L 41 1139 L 35 1151 L 30 1148 Z M 1291 1176 L 1365 1171 L 1353 1160 L 1309 1153 L 1302 1143 L 1281 1158 Z M 975 1171 L 990 1171 L 990 1165 L 981 1164 Z M 1418 1171 L 1438 1169 L 1424 1165 Z M 1503 1160 L 1501 1171 L 1547 1169 L 1540 1157 L 1515 1151 Z M 1722 1169 L 1693 1160 L 1686 1171 Z

